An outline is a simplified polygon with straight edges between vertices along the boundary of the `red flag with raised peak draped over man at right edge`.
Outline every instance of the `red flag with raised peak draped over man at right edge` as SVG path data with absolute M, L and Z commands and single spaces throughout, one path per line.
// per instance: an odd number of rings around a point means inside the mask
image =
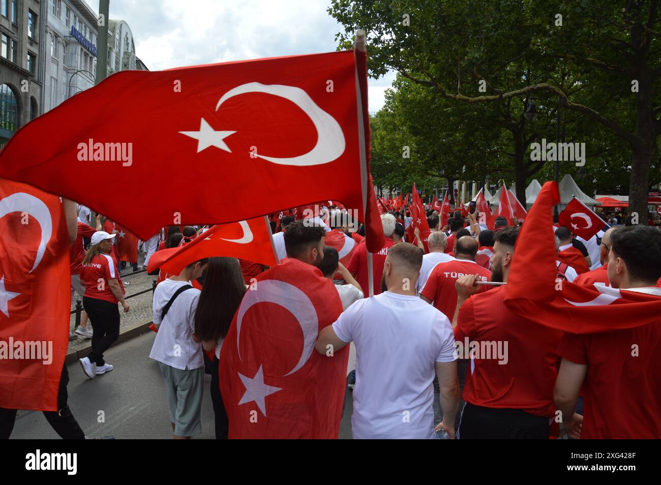
M 556 282 L 552 226 L 553 205 L 559 202 L 558 184 L 546 182 L 516 239 L 505 304 L 529 320 L 572 334 L 658 324 L 661 297 L 598 284 Z

